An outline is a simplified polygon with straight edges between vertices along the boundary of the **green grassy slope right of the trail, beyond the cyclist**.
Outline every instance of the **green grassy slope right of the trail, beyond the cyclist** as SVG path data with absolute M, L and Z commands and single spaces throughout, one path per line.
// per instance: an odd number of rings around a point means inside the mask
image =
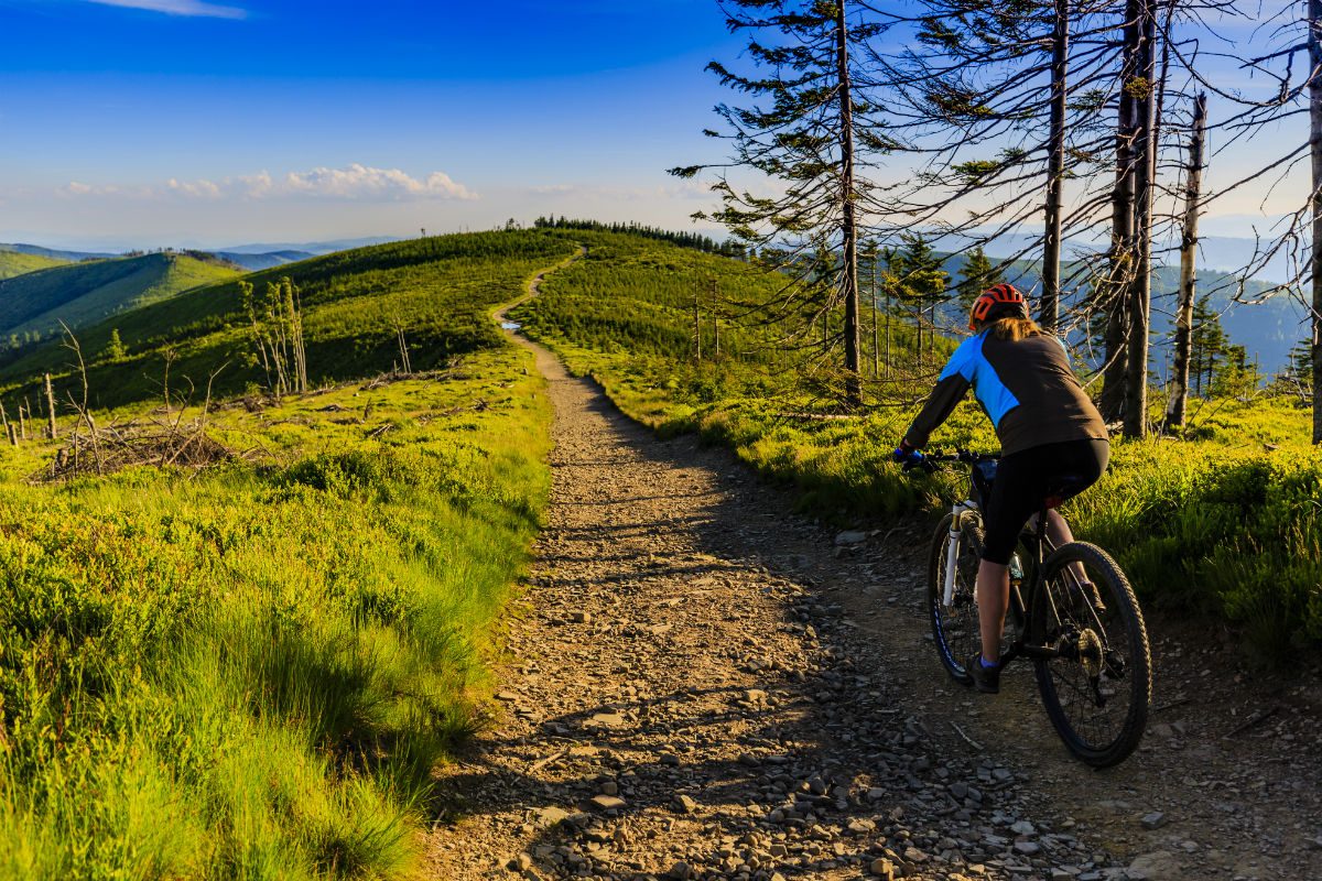
M 907 366 L 907 330 L 896 339 L 898 379 L 874 384 L 867 415 L 801 419 L 812 395 L 768 370 L 765 358 L 693 362 L 691 313 L 683 310 L 691 281 L 674 272 L 689 259 L 683 252 L 619 239 L 594 254 L 551 279 L 549 296 L 520 317 L 575 370 L 595 375 L 625 412 L 726 444 L 768 477 L 796 485 L 805 506 L 841 519 L 932 514 L 962 491 L 954 476 L 902 476 L 890 462 L 914 398 L 932 382 Z M 705 260 L 703 271 L 723 285 L 758 284 L 742 264 Z M 808 367 L 800 362 L 789 374 Z M 1154 413 L 1163 403 L 1154 396 Z M 1084 538 L 1116 553 L 1146 601 L 1227 621 L 1268 652 L 1315 643 L 1322 452 L 1307 436 L 1309 413 L 1286 399 L 1195 402 L 1186 440 L 1117 441 L 1110 470 L 1069 514 Z M 997 441 L 966 402 L 933 445 L 995 449 Z

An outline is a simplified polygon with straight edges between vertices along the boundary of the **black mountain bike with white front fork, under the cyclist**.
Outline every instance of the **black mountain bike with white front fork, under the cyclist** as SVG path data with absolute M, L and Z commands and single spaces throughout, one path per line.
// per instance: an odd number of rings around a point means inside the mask
M 982 557 L 982 507 L 998 457 L 958 450 L 906 465 L 933 472 L 941 462 L 969 468 L 969 494 L 951 507 L 932 538 L 928 614 L 947 672 L 972 686 L 964 664 L 982 647 L 974 594 Z M 1069 481 L 1052 487 L 1069 495 Z M 1095 544 L 1054 547 L 1048 499 L 1025 526 L 1010 559 L 1010 609 L 1002 667 L 1032 662 L 1047 716 L 1066 746 L 1093 767 L 1122 762 L 1144 736 L 1151 701 L 1151 654 L 1142 610 L 1125 573 Z

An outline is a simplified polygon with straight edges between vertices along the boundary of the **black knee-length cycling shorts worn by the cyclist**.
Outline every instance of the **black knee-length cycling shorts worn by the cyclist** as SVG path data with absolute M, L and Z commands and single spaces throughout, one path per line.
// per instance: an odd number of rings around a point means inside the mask
M 1104 440 L 1044 444 L 1002 458 L 984 511 L 982 559 L 1007 564 L 1019 531 L 1042 510 L 1043 499 L 1054 494 L 1064 501 L 1083 493 L 1097 482 L 1109 460 L 1110 444 Z

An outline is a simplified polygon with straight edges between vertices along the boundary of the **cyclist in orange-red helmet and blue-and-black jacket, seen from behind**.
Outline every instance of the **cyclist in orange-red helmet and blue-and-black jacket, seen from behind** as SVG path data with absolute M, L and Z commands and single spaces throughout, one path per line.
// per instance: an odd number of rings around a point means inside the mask
M 1110 457 L 1107 427 L 1069 369 L 1064 343 L 1029 317 L 1014 285 L 998 284 L 973 301 L 965 339 L 931 398 L 895 449 L 896 461 L 921 461 L 928 436 L 965 392 L 973 395 L 1001 441 L 992 498 L 985 501 L 985 542 L 977 604 L 982 651 L 965 663 L 978 691 L 1001 689 L 1001 635 L 1010 605 L 1010 556 L 1019 531 L 1046 499 L 1055 507 L 1097 482 Z M 1050 512 L 1047 535 L 1059 547 L 1073 535 Z

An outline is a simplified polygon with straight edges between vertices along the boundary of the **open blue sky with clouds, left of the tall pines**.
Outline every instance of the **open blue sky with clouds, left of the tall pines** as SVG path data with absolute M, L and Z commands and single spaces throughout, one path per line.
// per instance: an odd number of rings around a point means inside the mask
M 0 0 L 0 240 L 104 248 L 689 227 L 710 194 L 664 169 L 720 159 L 699 132 L 730 95 L 703 66 L 742 45 L 715 0 Z M 1210 180 L 1305 137 L 1264 132 Z

